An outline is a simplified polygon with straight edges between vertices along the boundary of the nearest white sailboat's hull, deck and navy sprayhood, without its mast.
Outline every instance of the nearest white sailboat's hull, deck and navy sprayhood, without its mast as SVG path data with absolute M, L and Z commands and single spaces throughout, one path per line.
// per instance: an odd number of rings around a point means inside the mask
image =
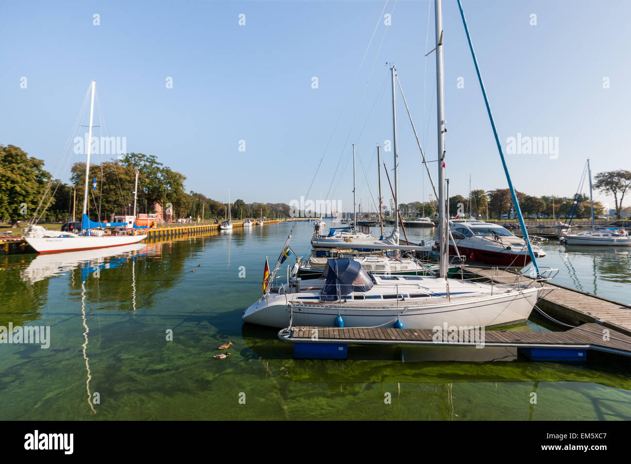
M 439 277 L 369 275 L 348 258 L 329 259 L 323 285 L 271 287 L 244 311 L 245 322 L 283 328 L 334 326 L 404 328 L 492 327 L 528 319 L 540 287 L 474 283 Z

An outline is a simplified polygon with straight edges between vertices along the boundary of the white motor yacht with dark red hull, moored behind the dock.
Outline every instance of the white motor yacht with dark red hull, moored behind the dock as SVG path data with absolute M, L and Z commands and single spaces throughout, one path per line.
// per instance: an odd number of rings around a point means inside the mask
M 471 261 L 480 261 L 494 266 L 523 267 L 530 263 L 526 241 L 498 224 L 478 220 L 458 220 L 449 222 L 452 240 L 449 250 L 458 252 Z M 435 237 L 436 239 L 436 237 Z M 546 252 L 538 246 L 540 241 L 531 240 L 536 258 L 543 258 Z

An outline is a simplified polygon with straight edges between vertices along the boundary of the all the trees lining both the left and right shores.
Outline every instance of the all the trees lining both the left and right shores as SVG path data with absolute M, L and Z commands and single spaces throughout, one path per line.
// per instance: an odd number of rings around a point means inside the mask
M 71 167 L 71 182 L 65 184 L 44 169 L 44 161 L 29 157 L 14 145 L 0 145 L 0 220 L 18 221 L 35 217 L 40 222 L 59 222 L 73 215 L 81 217 L 85 188 L 85 162 Z M 154 213 L 155 205 L 172 206 L 172 218 L 224 218 L 227 203 L 222 203 L 190 191 L 186 193 L 186 176 L 158 162 L 154 155 L 127 153 L 120 160 L 105 161 L 90 166 L 88 209 L 90 218 L 112 220 L 114 214 L 131 214 L 134 206 L 134 181 L 138 170 L 138 213 Z M 93 183 L 96 181 L 96 188 Z M 616 216 L 620 218 L 623 200 L 631 187 L 631 171 L 614 170 L 594 176 L 594 189 L 613 196 Z M 572 207 L 573 198 L 531 196 L 516 192 L 522 213 L 526 216 L 564 217 Z M 469 205 L 470 203 L 470 205 Z M 76 205 L 76 206 L 74 206 Z M 624 208 L 625 210 L 627 208 Z M 412 201 L 399 205 L 403 215 L 432 216 L 437 213 L 437 201 Z M 470 199 L 461 195 L 449 198 L 449 213 L 478 217 L 510 215 L 514 211 L 509 189 L 471 191 Z M 237 199 L 230 205 L 231 219 L 290 217 L 290 206 L 285 203 L 245 203 Z M 608 211 L 607 211 L 608 213 Z M 594 214 L 603 214 L 603 205 L 594 202 Z M 589 198 L 582 194 L 575 212 L 577 217 L 591 215 Z

